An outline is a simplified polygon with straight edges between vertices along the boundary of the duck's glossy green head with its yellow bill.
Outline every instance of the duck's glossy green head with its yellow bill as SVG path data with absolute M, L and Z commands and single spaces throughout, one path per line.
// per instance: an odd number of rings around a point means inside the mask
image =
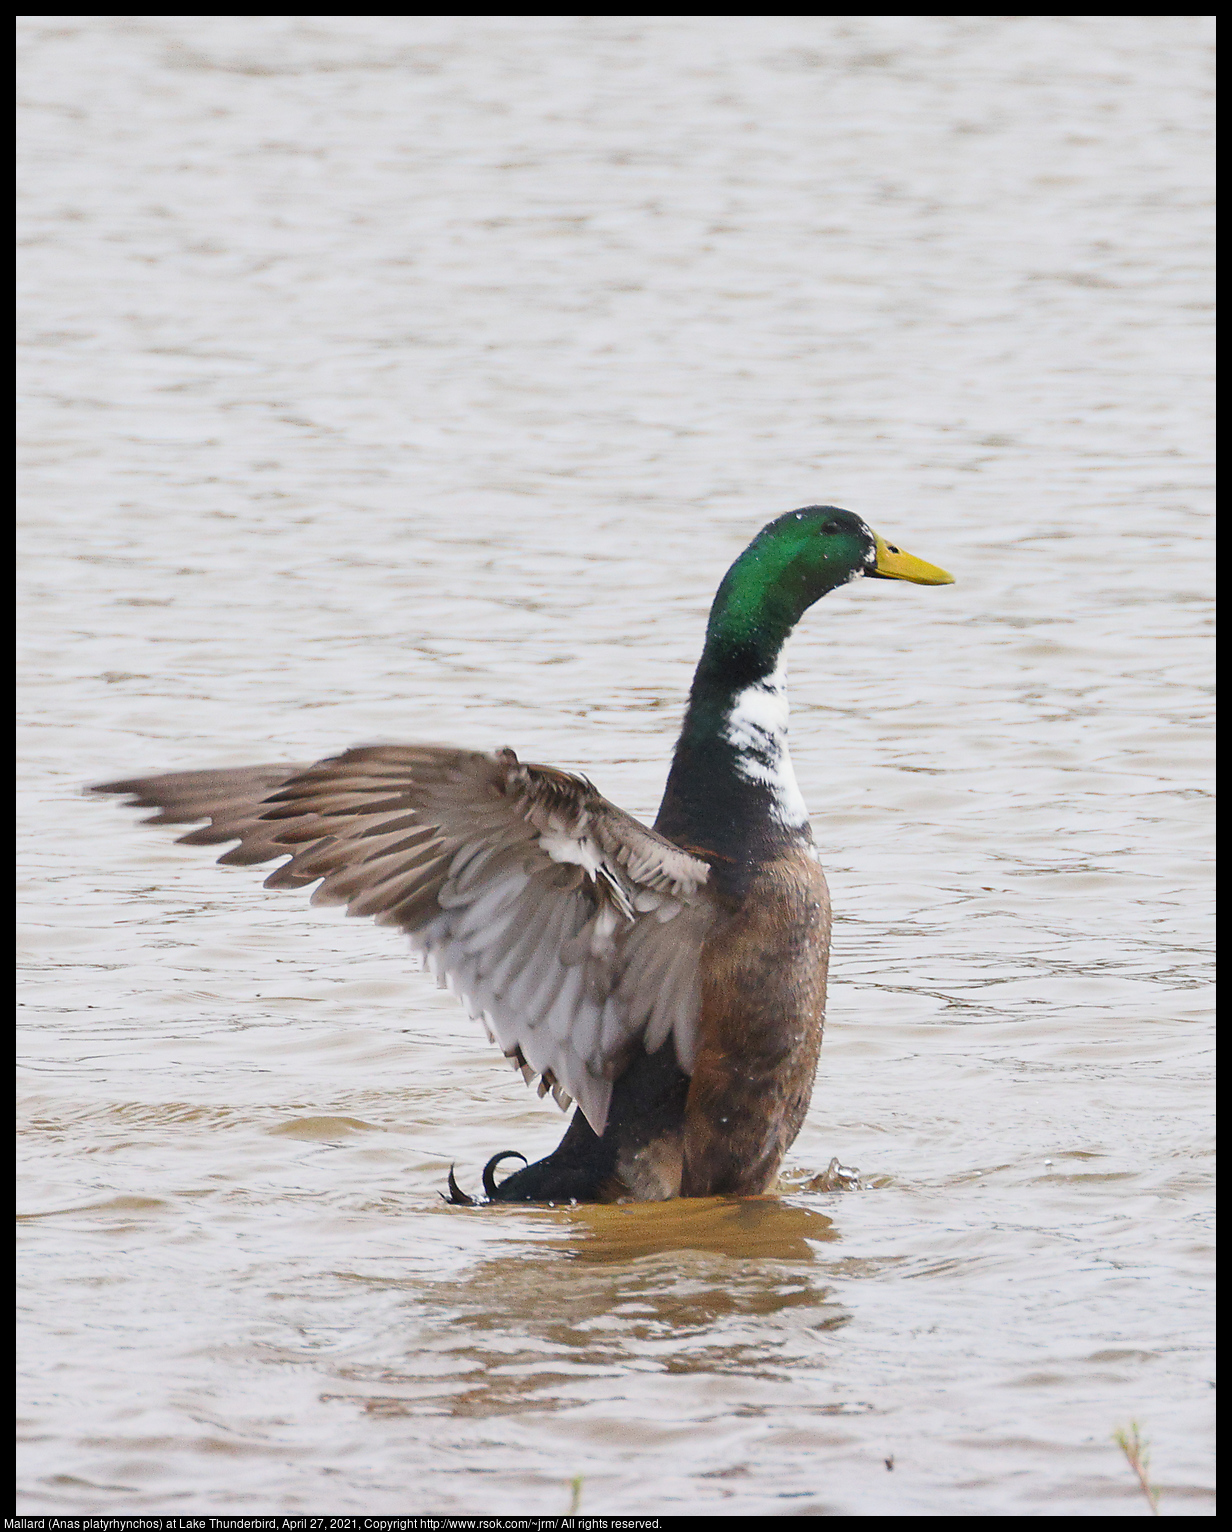
M 706 628 L 706 651 L 731 663 L 777 657 L 809 607 L 847 581 L 906 579 L 952 585 L 935 564 L 903 553 L 837 506 L 804 506 L 768 522 L 723 576 Z

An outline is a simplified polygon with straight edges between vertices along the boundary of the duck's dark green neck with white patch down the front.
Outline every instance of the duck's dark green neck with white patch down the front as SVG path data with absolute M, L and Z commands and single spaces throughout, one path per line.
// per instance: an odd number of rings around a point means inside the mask
M 786 844 L 812 841 L 788 754 L 781 665 L 803 608 L 742 581 L 740 562 L 714 597 L 656 820 L 660 835 L 714 853 L 720 881 L 734 889 Z

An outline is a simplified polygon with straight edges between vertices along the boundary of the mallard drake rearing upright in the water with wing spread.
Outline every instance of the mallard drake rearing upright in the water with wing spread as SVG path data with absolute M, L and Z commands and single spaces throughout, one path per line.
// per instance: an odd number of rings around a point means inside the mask
M 513 751 L 375 745 L 316 764 L 103 783 L 290 853 L 268 889 L 320 887 L 398 925 L 539 1094 L 578 1111 L 498 1201 L 657 1201 L 769 1187 L 804 1120 L 826 1010 L 831 908 L 788 755 L 780 656 L 861 574 L 949 585 L 860 516 L 771 521 L 723 576 L 654 829 L 584 777 Z M 518 1155 L 518 1158 L 524 1158 Z M 470 1201 L 457 1190 L 455 1201 Z

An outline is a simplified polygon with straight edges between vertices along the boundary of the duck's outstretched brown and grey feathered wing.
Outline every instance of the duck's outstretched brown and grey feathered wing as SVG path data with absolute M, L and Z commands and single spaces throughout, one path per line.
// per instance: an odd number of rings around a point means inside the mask
M 602 1134 L 633 1045 L 696 1052 L 709 864 L 608 803 L 582 777 L 443 746 L 375 745 L 311 766 L 244 766 L 103 783 L 153 824 L 210 824 L 224 863 L 290 861 L 270 889 L 319 882 L 398 925 L 489 1037 L 573 1097 Z

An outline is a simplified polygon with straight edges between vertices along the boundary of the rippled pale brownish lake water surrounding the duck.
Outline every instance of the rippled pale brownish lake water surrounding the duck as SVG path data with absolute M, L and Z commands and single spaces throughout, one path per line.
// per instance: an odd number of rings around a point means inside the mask
M 1207 49 L 23 23 L 23 1511 L 1148 1515 L 1131 1420 L 1211 1509 Z M 81 783 L 441 740 L 653 815 L 811 501 L 958 582 L 791 648 L 781 1195 L 446 1207 L 556 1108 Z

